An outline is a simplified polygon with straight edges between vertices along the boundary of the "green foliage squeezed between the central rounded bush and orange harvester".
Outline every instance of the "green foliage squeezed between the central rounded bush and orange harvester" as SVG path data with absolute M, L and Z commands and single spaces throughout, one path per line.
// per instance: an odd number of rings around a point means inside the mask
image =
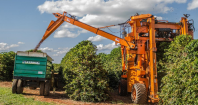
M 104 69 L 108 72 L 109 86 L 111 88 L 118 87 L 118 81 L 121 79 L 122 60 L 120 47 L 114 48 L 110 54 L 99 53 L 104 65 Z

